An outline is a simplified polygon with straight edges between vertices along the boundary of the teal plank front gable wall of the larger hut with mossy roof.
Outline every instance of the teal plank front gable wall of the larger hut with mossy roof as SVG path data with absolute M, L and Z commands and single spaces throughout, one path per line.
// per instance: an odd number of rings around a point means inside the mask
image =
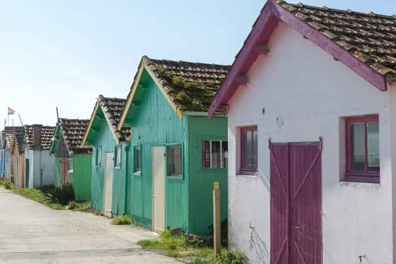
M 129 199 L 127 212 L 133 216 L 137 223 L 151 229 L 151 148 L 153 145 L 185 143 L 186 121 L 179 119 L 155 83 L 147 77 L 147 72 L 143 73 L 141 85 L 143 89 L 138 89 L 133 101 L 134 106 L 131 107 L 128 116 L 132 125 L 131 153 L 133 153 L 134 146 L 141 146 L 142 173 L 140 175 L 133 174 L 133 165 L 130 166 L 127 180 L 127 190 L 130 193 L 127 194 Z M 134 158 L 131 158 L 132 164 L 134 164 Z M 181 179 L 166 177 L 165 226 L 179 225 L 187 230 L 188 177 L 185 172 Z

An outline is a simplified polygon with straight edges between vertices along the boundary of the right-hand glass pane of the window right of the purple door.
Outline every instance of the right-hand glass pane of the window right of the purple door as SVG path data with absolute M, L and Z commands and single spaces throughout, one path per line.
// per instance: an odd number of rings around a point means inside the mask
M 368 170 L 380 171 L 380 127 L 379 122 L 367 122 Z

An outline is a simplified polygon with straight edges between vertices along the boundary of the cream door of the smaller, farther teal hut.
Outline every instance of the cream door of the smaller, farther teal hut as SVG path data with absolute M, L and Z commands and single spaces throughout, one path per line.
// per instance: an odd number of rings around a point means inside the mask
M 111 217 L 111 203 L 113 198 L 113 164 L 114 153 L 106 153 L 104 162 L 104 193 L 103 193 L 103 214 Z

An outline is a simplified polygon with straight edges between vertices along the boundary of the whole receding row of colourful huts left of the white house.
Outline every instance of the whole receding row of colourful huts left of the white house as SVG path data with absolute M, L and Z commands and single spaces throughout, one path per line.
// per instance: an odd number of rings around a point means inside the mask
M 0 172 L 17 188 L 70 183 L 106 216 L 208 235 L 213 182 L 227 218 L 227 117 L 207 110 L 229 66 L 144 56 L 126 99 L 99 95 L 90 119 L 2 131 Z

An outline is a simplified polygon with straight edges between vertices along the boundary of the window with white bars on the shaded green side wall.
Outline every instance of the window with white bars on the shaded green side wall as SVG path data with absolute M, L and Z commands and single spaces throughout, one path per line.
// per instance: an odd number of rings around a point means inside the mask
M 228 142 L 221 140 L 202 141 L 202 167 L 227 168 Z

